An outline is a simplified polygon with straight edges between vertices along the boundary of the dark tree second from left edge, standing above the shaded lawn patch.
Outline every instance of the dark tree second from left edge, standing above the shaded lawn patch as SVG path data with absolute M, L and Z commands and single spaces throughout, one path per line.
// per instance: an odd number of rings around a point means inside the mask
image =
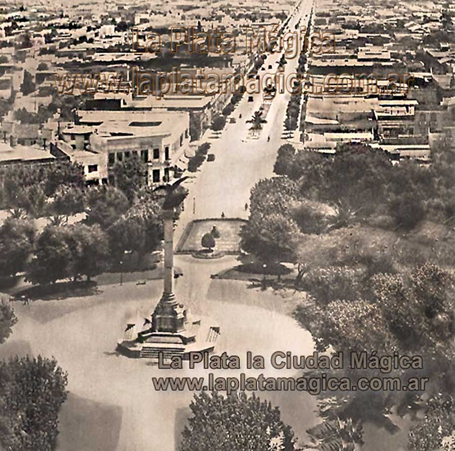
M 55 283 L 71 276 L 73 254 L 69 228 L 46 227 L 36 241 L 35 256 L 26 271 L 26 280 L 33 284 Z

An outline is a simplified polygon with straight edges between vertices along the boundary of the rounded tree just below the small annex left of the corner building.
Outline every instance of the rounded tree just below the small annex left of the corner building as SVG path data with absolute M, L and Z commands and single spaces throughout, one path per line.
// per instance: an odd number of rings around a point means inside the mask
M 107 229 L 129 208 L 127 197 L 118 188 L 93 187 L 86 195 L 86 223 Z

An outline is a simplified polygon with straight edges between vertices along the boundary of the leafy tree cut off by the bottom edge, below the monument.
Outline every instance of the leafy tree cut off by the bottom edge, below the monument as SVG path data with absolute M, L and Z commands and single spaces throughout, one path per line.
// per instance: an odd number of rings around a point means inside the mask
M 193 416 L 182 432 L 179 451 L 294 450 L 294 432 L 280 410 L 245 392 L 224 397 L 201 392 L 190 404 Z

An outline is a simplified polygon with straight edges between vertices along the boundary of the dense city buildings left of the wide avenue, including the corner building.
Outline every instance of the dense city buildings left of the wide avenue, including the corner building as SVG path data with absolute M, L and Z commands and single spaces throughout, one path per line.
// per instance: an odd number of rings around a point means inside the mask
M 19 6 L 0 2 L 0 164 L 41 163 L 59 158 L 84 166 L 88 184 L 113 184 L 113 168 L 130 158 L 147 163 L 148 183 L 162 184 L 181 173 L 203 133 L 231 100 L 234 87 L 226 77 L 246 74 L 257 55 L 239 39 L 235 53 L 208 51 L 172 55 L 171 26 L 197 27 L 207 33 L 283 23 L 293 2 L 254 1 L 233 8 L 203 2 L 61 2 Z M 163 37 L 155 53 L 131 48 L 131 30 Z M 243 42 L 243 43 L 242 43 Z M 178 89 L 142 93 L 133 73 L 168 73 L 193 79 L 196 71 L 215 74 L 210 90 L 183 95 Z M 199 73 L 198 72 L 198 73 Z M 72 89 L 61 80 L 77 78 Z M 102 81 L 94 92 L 87 79 Z M 121 77 L 121 84 L 111 84 Z M 162 86 L 161 86 L 162 88 Z

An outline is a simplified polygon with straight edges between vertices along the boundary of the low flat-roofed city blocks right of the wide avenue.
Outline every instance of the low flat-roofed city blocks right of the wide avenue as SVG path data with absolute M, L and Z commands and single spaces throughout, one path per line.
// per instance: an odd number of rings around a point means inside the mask
M 333 153 L 367 143 L 423 162 L 455 145 L 455 11 L 450 2 L 319 2 L 313 27 L 330 52 L 309 52 L 301 141 Z

